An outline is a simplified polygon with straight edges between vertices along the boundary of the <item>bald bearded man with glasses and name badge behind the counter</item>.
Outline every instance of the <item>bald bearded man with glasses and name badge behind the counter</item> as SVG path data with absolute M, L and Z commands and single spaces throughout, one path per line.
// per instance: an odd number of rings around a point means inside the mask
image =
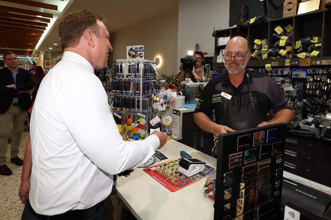
M 293 104 L 277 82 L 246 70 L 251 55 L 242 37 L 234 37 L 226 45 L 224 65 L 228 73 L 208 82 L 194 113 L 202 130 L 224 134 L 293 119 Z

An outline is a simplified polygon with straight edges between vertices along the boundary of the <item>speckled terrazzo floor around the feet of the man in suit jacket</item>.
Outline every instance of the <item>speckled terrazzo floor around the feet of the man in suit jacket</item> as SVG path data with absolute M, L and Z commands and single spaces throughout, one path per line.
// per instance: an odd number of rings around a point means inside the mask
M 22 160 L 24 158 L 25 145 L 29 137 L 29 132 L 22 132 L 18 154 Z M 24 208 L 18 197 L 22 167 L 10 163 L 10 144 L 8 144 L 7 150 L 7 166 L 13 171 L 13 174 L 10 176 L 0 175 L 0 219 L 19 220 L 21 219 Z

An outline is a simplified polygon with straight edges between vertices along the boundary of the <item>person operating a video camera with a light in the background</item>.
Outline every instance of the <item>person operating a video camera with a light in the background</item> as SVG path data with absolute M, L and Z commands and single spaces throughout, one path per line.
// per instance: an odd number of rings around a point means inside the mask
M 193 82 L 199 82 L 200 79 L 204 77 L 204 66 L 202 65 L 204 53 L 202 51 L 195 51 L 193 56 L 196 58 L 193 70 L 185 70 L 185 68 L 183 68 L 183 64 L 179 67 L 181 72 L 179 72 L 177 76 L 181 82 L 186 78 L 190 78 Z

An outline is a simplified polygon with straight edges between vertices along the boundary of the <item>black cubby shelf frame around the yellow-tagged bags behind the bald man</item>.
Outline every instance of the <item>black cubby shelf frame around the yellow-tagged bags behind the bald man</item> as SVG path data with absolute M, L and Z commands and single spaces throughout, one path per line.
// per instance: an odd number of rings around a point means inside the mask
M 286 58 L 278 59 L 264 59 L 264 60 L 250 60 L 247 63 L 247 67 L 264 67 L 265 64 L 271 64 L 272 67 L 285 67 L 285 66 L 299 66 L 299 58 L 294 57 L 295 54 L 295 42 L 302 37 L 307 36 L 319 36 L 321 37 L 322 46 L 319 57 L 311 57 L 313 61 L 312 65 L 316 64 L 316 60 L 321 60 L 320 65 L 331 65 L 331 10 L 315 11 L 306 14 L 296 15 L 287 18 L 274 19 L 259 24 L 251 24 L 245 26 L 230 27 L 223 30 L 218 30 L 215 35 L 215 50 L 214 50 L 214 60 L 217 60 L 217 55 L 221 49 L 225 49 L 225 45 L 217 46 L 217 38 L 224 36 L 242 36 L 246 38 L 253 52 L 253 45 L 255 39 L 265 38 L 268 40 L 268 49 L 272 47 L 272 33 L 274 28 L 282 24 L 291 24 L 293 26 L 292 35 L 292 51 L 290 58 L 290 65 L 286 65 Z M 223 68 L 223 62 L 215 62 L 215 67 Z

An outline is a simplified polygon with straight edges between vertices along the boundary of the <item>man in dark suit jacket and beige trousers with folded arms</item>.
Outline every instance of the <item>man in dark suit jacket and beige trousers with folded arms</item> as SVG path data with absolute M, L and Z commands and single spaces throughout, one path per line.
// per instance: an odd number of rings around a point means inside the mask
M 11 146 L 11 163 L 22 166 L 18 158 L 18 147 L 21 142 L 25 112 L 32 106 L 29 90 L 33 89 L 32 75 L 18 68 L 18 58 L 12 51 L 4 53 L 6 68 L 0 70 L 0 174 L 11 175 L 12 171 L 6 165 L 8 138 L 13 125 Z

